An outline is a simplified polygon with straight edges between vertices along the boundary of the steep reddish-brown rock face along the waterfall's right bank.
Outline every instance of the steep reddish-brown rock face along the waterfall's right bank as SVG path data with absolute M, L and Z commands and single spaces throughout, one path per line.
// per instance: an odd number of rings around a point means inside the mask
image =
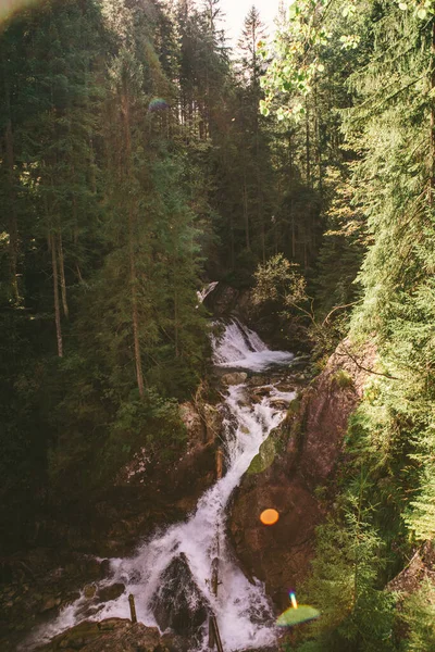
M 348 340 L 341 342 L 236 490 L 229 523 L 236 553 L 248 576 L 265 581 L 279 607 L 309 572 L 314 530 L 325 516 L 316 497 L 339 471 L 348 419 L 375 360 L 373 346 L 355 353 Z M 278 523 L 269 528 L 253 517 L 266 507 L 279 512 Z

